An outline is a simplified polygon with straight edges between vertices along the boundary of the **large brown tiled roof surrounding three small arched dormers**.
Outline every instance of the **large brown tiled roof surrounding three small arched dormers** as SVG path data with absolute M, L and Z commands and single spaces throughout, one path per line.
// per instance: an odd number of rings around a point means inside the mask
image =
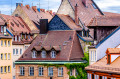
M 47 50 L 50 50 L 50 48 L 53 47 L 60 51 L 56 58 L 32 58 L 32 49 L 36 48 L 39 51 L 41 47 Z M 48 31 L 46 35 L 38 35 L 18 61 L 81 61 L 83 56 L 83 50 L 75 31 Z

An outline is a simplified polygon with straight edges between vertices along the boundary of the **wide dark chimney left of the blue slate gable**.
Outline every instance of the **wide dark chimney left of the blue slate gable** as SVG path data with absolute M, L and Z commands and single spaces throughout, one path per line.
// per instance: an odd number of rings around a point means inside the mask
M 46 34 L 48 31 L 48 19 L 40 19 L 40 34 Z

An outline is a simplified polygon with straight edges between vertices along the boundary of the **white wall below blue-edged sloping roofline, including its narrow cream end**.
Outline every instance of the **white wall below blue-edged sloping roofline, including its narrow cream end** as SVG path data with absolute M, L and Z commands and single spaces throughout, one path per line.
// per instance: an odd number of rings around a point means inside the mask
M 107 39 L 105 38 L 106 40 L 102 44 L 100 44 L 97 48 L 89 49 L 89 58 L 91 58 L 90 52 L 92 50 L 96 51 L 96 61 L 98 61 L 106 55 L 107 48 L 115 48 L 116 46 L 118 46 L 120 44 L 120 29 L 108 37 L 109 38 L 107 38 Z M 116 58 L 114 58 L 114 59 L 116 59 Z M 89 63 L 91 65 L 96 61 L 91 61 L 91 59 L 90 59 Z M 112 61 L 114 61 L 114 60 L 112 60 Z

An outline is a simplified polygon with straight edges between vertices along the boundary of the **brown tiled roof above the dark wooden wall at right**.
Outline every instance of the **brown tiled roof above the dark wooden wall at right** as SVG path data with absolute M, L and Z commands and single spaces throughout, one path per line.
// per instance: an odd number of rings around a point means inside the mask
M 88 27 L 90 26 L 120 26 L 120 15 L 94 17 Z

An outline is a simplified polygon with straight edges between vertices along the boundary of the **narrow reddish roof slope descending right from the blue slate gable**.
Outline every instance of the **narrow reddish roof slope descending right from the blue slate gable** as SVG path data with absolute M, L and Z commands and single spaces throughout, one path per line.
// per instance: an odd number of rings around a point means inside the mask
M 75 24 L 73 19 L 69 15 L 57 14 L 58 17 L 72 30 L 82 30 L 82 28 Z

